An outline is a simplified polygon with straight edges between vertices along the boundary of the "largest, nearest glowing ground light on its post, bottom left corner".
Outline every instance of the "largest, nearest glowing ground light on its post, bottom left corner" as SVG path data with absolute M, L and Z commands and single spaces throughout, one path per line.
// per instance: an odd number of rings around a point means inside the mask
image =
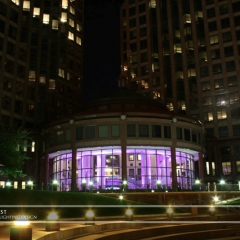
M 19 216 L 10 228 L 11 240 L 32 240 L 32 228 L 25 216 Z

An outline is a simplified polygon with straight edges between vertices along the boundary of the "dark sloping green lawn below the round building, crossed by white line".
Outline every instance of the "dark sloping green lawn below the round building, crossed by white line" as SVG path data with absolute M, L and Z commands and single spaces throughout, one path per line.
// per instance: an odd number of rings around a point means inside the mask
M 38 219 L 46 219 L 48 212 L 55 210 L 60 218 L 84 217 L 86 210 L 94 209 L 96 216 L 122 216 L 129 206 L 142 205 L 142 203 L 119 200 L 101 194 L 80 192 L 54 192 L 22 189 L 0 189 L 1 205 L 48 205 L 47 208 L 7 208 L 8 215 L 29 214 L 37 215 Z M 86 205 L 86 207 L 53 207 L 53 205 Z M 96 208 L 96 205 L 126 205 L 126 207 Z M 133 208 L 134 214 L 165 213 L 165 208 Z

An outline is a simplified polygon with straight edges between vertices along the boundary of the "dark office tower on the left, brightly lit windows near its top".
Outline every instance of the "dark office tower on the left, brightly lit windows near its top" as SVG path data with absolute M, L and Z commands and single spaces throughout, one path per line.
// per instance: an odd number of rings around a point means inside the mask
M 78 109 L 82 0 L 0 1 L 1 122 L 36 127 Z

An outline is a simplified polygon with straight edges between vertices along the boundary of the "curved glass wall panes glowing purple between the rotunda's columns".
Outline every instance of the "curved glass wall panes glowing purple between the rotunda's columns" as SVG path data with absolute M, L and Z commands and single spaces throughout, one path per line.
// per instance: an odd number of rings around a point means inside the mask
M 194 156 L 178 149 L 176 175 L 179 188 L 191 189 L 194 182 Z M 172 156 L 168 147 L 127 147 L 127 179 L 122 179 L 121 147 L 78 149 L 76 180 L 79 190 L 122 189 L 127 180 L 129 189 L 172 188 Z M 53 159 L 53 178 L 59 190 L 71 189 L 72 155 L 61 154 Z

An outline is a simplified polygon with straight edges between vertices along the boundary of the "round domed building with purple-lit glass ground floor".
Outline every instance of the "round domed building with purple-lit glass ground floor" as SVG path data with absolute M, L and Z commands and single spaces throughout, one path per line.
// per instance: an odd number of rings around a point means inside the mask
M 61 191 L 192 190 L 203 179 L 203 126 L 127 89 L 83 106 L 45 128 L 40 180 Z M 126 182 L 125 182 L 126 181 Z

